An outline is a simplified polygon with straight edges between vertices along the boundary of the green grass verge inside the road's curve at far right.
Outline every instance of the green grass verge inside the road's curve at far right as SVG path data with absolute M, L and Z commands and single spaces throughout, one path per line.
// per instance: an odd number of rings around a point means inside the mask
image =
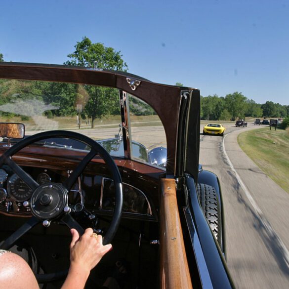
M 253 129 L 240 133 L 238 143 L 256 165 L 289 193 L 289 130 Z

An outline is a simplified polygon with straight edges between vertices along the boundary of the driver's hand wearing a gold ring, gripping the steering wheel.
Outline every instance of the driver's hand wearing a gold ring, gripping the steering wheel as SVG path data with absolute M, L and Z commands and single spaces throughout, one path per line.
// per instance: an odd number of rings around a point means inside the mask
M 112 245 L 102 245 L 102 236 L 93 233 L 91 228 L 85 230 L 80 237 L 75 229 L 71 229 L 72 241 L 70 244 L 71 266 L 79 267 L 88 272 L 94 268 L 103 255 L 112 249 Z M 93 233 L 93 234 L 92 234 Z

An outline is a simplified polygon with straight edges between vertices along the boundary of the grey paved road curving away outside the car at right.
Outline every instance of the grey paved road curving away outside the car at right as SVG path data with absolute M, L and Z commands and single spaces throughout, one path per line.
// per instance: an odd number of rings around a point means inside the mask
M 239 289 L 287 289 L 289 194 L 237 143 L 240 132 L 259 126 L 226 128 L 224 142 L 220 136 L 201 135 L 200 163 L 220 179 L 229 270 Z

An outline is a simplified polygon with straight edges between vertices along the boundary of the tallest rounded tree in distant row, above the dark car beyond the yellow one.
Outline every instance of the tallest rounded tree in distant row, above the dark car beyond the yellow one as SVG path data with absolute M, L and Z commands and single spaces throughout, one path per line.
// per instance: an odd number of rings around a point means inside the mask
M 237 117 L 243 118 L 247 108 L 247 97 L 242 92 L 235 91 L 234 93 L 225 96 L 226 109 L 231 114 L 231 119 Z

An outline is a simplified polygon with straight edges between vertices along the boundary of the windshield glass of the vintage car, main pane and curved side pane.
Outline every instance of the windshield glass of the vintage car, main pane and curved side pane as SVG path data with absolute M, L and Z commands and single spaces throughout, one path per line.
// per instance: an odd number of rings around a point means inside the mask
M 79 132 L 97 141 L 110 155 L 124 157 L 119 93 L 116 88 L 86 84 L 0 80 L 0 122 L 24 124 L 26 137 L 56 129 Z M 166 159 L 160 163 L 150 158 L 150 150 L 157 147 L 164 149 L 166 158 L 165 132 L 159 117 L 147 104 L 129 97 L 133 123 L 131 157 L 165 167 Z M 152 131 L 157 131 L 158 138 L 151 136 Z M 43 143 L 69 150 L 87 149 L 71 139 L 53 138 Z

